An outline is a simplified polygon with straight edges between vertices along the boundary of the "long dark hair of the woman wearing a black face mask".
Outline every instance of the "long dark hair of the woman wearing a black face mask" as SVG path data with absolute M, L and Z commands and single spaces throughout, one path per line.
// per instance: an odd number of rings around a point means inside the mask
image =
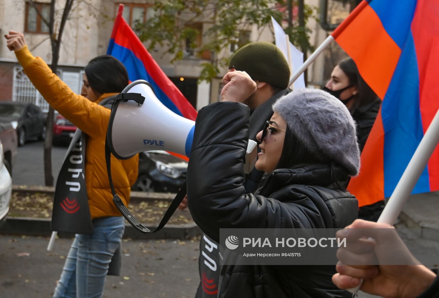
M 356 87 L 358 93 L 355 95 L 355 101 L 350 111 L 354 111 L 356 108 L 367 105 L 370 102 L 374 102 L 378 99 L 378 96 L 369 87 L 358 72 L 355 62 L 352 58 L 346 58 L 338 63 L 338 67 L 342 69 L 343 73 L 348 77 L 349 84 Z

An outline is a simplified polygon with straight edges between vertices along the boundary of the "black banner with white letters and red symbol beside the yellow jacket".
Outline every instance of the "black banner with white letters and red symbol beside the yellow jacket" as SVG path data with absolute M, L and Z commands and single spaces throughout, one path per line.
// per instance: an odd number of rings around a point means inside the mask
M 85 141 L 86 136 L 82 131 L 76 130 L 56 182 L 53 231 L 78 234 L 94 232 L 84 178 Z

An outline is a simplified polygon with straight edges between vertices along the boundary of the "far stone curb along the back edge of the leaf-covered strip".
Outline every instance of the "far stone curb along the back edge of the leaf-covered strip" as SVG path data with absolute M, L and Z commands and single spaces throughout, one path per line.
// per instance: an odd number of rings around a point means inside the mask
M 12 192 L 16 193 L 44 193 L 47 196 L 54 196 L 55 188 L 53 186 L 29 186 L 29 185 L 12 185 Z M 131 192 L 131 201 L 144 201 L 144 200 L 162 200 L 172 201 L 174 200 L 176 193 L 143 193 L 143 192 Z

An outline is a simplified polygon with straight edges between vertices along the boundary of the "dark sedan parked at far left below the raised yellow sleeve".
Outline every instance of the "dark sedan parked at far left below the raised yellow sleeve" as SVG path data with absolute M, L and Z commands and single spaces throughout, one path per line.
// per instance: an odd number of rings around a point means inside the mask
M 18 145 L 31 138 L 46 137 L 46 114 L 32 103 L 0 102 L 0 122 L 12 123 L 17 130 Z

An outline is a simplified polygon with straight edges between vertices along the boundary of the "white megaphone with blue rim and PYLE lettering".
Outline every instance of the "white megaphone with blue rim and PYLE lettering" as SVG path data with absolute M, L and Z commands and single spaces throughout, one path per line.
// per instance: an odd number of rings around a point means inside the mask
M 122 93 L 138 93 L 143 104 L 130 100 L 116 101 L 108 124 L 108 147 L 119 159 L 128 159 L 143 151 L 164 150 L 190 157 L 195 121 L 169 110 L 155 96 L 147 81 L 137 80 Z M 128 94 L 127 94 L 128 95 Z M 256 142 L 249 140 L 245 173 L 256 162 Z

